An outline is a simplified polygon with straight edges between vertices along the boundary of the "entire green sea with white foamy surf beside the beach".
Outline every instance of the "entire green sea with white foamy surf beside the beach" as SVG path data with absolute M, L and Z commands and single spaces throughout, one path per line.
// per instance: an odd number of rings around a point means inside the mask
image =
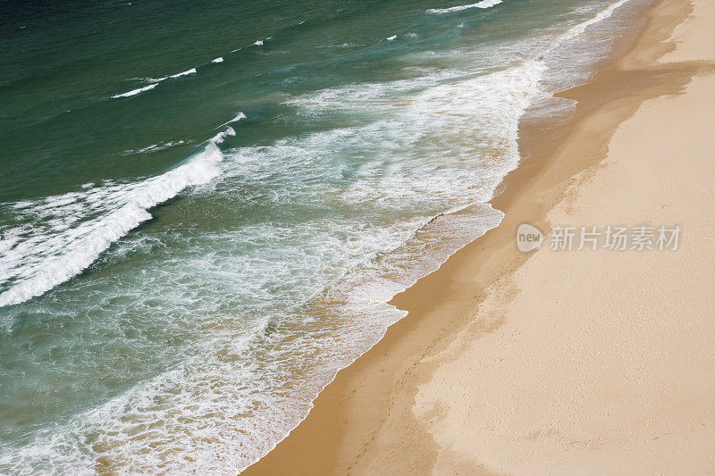
M 0 472 L 265 455 L 639 4 L 0 4 Z

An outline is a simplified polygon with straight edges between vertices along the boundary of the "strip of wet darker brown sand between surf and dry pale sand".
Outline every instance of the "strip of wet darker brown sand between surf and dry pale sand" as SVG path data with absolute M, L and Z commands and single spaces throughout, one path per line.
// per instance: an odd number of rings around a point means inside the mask
M 700 63 L 656 64 L 672 51 L 671 32 L 690 13 L 689 3 L 662 0 L 619 38 L 589 83 L 559 96 L 578 101 L 575 116 L 554 140 L 539 142 L 520 130 L 526 154 L 491 204 L 506 213 L 501 224 L 460 249 L 438 271 L 391 300 L 408 316 L 374 347 L 338 373 L 315 399 L 307 419 L 244 474 L 426 472 L 440 454 L 430 418 L 413 413 L 419 388 L 442 364 L 438 356 L 471 325 L 473 338 L 498 330 L 506 318 L 472 322 L 498 280 L 509 279 L 531 255 L 517 251 L 518 224 L 549 230 L 548 214 L 573 188 L 588 182 L 606 158 L 619 125 L 647 99 L 677 95 L 702 70 Z M 543 130 L 540 131 L 543 133 Z M 440 411 L 433 412 L 434 417 Z M 429 416 L 429 415 L 428 415 Z M 452 467 L 452 469 L 456 469 Z M 469 473 L 489 473 L 465 466 Z

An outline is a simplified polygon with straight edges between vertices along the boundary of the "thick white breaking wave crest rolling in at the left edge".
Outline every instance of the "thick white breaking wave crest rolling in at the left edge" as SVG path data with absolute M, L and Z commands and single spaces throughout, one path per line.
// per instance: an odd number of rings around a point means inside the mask
M 25 213 L 56 216 L 58 220 L 54 230 L 34 233 L 10 230 L 25 239 L 7 250 L 0 260 L 0 276 L 13 280 L 10 288 L 0 294 L 0 307 L 39 296 L 78 275 L 112 243 L 149 220 L 151 214 L 147 209 L 164 203 L 185 188 L 214 179 L 220 173 L 218 163 L 223 160 L 217 144 L 231 135 L 235 135 L 233 129 L 224 130 L 186 163 L 139 183 L 49 196 L 31 205 L 21 204 Z M 98 216 L 83 220 L 82 214 L 87 212 Z M 53 221 L 49 223 L 53 226 Z

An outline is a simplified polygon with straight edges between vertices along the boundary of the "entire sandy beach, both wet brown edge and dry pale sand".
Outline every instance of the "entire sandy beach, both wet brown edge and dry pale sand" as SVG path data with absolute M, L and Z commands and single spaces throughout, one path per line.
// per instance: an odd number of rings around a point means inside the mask
M 715 472 L 715 4 L 665 0 L 492 204 L 501 225 L 244 474 Z M 543 132 L 542 132 L 543 133 Z M 541 249 L 517 250 L 522 223 Z M 677 250 L 550 249 L 554 227 L 682 229 Z

